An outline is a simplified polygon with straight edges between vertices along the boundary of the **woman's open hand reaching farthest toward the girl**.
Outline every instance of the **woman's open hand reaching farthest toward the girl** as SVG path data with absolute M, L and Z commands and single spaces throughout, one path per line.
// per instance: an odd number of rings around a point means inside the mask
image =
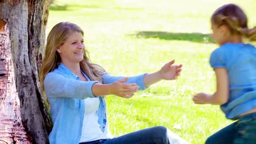
M 174 62 L 175 60 L 168 62 L 160 69 L 159 75 L 163 80 L 174 80 L 180 75 L 182 64 L 172 65 Z

